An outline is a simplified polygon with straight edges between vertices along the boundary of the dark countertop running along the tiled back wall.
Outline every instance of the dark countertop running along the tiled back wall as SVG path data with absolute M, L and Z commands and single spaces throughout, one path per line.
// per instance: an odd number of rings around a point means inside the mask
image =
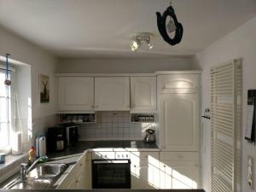
M 129 148 L 147 150 L 159 150 L 155 143 L 144 143 L 143 141 L 81 141 L 76 146 L 67 147 L 66 151 L 47 154 L 49 158 L 81 154 L 88 149 L 96 148 Z

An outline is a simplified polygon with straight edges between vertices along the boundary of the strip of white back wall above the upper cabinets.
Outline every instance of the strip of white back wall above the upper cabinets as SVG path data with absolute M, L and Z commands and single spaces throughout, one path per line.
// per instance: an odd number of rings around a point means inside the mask
M 135 53 L 136 54 L 136 53 Z M 162 59 L 61 60 L 58 73 L 153 73 L 161 70 L 191 70 L 191 57 Z

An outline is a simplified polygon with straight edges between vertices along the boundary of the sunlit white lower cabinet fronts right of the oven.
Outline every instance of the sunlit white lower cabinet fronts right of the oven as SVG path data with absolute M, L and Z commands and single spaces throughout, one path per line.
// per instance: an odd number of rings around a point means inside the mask
M 131 189 L 198 189 L 196 152 L 131 152 Z

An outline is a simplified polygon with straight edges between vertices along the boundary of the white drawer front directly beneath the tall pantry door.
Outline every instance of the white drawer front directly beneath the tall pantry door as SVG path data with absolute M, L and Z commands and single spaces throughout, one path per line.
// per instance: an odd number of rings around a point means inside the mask
M 160 152 L 160 160 L 199 160 L 197 152 Z

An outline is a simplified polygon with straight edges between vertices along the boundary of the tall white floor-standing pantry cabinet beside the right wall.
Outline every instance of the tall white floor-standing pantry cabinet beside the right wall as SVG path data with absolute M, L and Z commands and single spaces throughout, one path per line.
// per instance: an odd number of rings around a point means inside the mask
M 157 76 L 161 189 L 200 187 L 199 87 L 197 71 Z

